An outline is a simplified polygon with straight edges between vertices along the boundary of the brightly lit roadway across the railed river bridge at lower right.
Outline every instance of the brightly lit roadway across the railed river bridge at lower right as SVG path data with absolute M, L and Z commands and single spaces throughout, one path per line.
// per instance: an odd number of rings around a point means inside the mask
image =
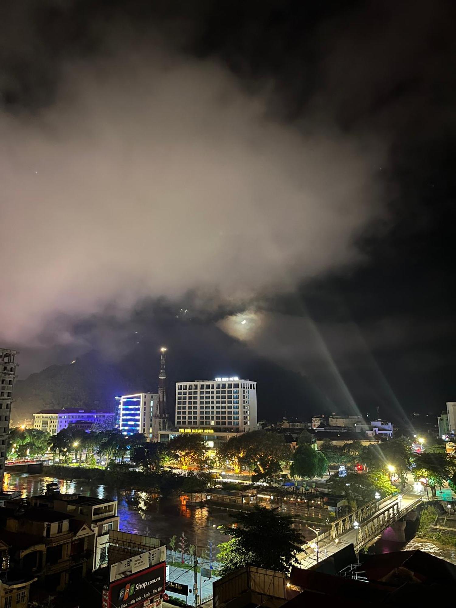
M 423 487 L 421 486 L 421 484 L 420 484 L 420 486 L 413 485 L 413 480 L 412 480 L 412 483 L 411 483 L 411 485 L 408 486 L 408 488 L 409 489 L 406 489 L 402 493 L 402 500 L 401 500 L 402 510 L 405 510 L 407 508 L 407 506 L 409 506 L 410 503 L 414 502 L 416 499 L 418 499 L 420 497 L 423 498 Z M 376 511 L 375 514 L 368 517 L 364 521 L 359 522 L 360 526 L 364 527 L 367 522 L 370 522 L 371 520 L 378 517 L 379 514 L 383 513 L 384 511 L 387 511 L 390 508 L 390 506 L 394 505 L 395 503 L 398 503 L 398 497 L 393 497 L 391 500 L 388 500 L 387 502 L 382 503 L 379 510 Z M 356 530 L 351 529 L 351 530 L 348 530 L 345 534 L 342 534 L 341 536 L 339 536 L 339 538 L 337 539 L 338 542 L 336 542 L 335 540 L 329 541 L 328 539 L 321 539 L 318 544 L 319 561 L 322 561 L 322 559 L 330 557 L 333 553 L 337 553 L 337 551 L 339 551 L 342 547 L 346 547 L 347 545 L 350 545 L 351 543 L 356 545 L 357 537 L 358 537 L 358 532 Z M 300 561 L 300 567 L 310 568 L 311 566 L 313 566 L 317 563 L 317 550 L 316 549 L 312 550 L 311 548 L 307 548 L 307 550 L 304 553 L 300 553 L 298 555 L 298 559 Z

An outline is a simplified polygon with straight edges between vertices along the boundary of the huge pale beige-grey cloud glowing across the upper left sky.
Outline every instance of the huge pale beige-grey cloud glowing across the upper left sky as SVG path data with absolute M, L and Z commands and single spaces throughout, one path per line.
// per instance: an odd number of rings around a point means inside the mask
M 1 128 L 4 339 L 111 300 L 292 289 L 356 260 L 381 212 L 367 144 L 303 137 L 215 62 L 158 42 L 69 64 L 52 105 Z

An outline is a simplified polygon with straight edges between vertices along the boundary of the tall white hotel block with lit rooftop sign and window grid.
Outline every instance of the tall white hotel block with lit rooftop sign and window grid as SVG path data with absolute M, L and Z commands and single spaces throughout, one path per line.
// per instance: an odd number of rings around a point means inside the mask
M 257 428 L 257 382 L 237 377 L 176 382 L 176 427 L 245 432 Z

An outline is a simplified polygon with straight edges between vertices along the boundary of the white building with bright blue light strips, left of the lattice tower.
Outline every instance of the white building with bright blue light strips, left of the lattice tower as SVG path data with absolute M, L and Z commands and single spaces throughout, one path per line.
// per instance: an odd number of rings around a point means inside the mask
M 150 438 L 157 400 L 157 393 L 135 393 L 116 397 L 116 429 L 120 429 L 123 435 L 142 433 Z

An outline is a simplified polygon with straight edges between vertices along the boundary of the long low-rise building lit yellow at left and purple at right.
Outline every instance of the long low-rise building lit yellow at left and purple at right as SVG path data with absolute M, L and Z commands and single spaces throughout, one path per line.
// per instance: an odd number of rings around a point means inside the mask
M 78 407 L 64 407 L 61 410 L 40 410 L 33 414 L 35 429 L 44 430 L 50 435 L 57 435 L 68 426 L 75 429 L 89 431 L 94 424 L 102 424 L 103 427 L 114 427 L 114 412 L 103 410 L 85 410 Z

